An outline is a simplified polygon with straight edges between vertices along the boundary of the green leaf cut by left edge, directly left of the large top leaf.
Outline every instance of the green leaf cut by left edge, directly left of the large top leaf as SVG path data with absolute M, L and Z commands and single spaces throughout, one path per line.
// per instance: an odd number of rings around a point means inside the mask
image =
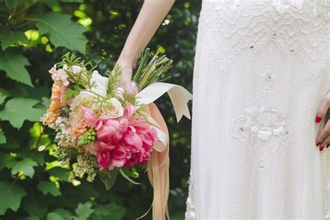
M 15 44 L 15 42 L 29 42 L 26 38 L 24 32 L 22 31 L 11 31 L 8 27 L 0 27 L 0 40 L 2 45 L 2 50 L 5 50 L 10 45 Z

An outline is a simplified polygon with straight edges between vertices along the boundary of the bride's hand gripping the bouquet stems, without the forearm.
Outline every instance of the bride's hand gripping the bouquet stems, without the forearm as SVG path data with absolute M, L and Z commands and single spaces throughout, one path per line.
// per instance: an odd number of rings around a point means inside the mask
M 122 58 L 119 58 L 116 64 L 120 66 L 121 70 L 121 74 L 119 76 L 119 86 L 127 91 L 127 93 L 134 93 L 132 86 L 132 73 L 134 65 Z

